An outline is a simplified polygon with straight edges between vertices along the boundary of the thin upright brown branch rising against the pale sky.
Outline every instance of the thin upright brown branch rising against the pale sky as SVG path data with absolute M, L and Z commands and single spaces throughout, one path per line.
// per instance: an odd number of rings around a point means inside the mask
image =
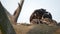
M 23 6 L 24 0 L 21 0 L 20 3 L 18 3 L 18 8 L 15 10 L 13 16 L 14 16 L 14 22 L 17 22 L 17 19 L 19 17 L 19 14 L 21 12 L 22 6 Z

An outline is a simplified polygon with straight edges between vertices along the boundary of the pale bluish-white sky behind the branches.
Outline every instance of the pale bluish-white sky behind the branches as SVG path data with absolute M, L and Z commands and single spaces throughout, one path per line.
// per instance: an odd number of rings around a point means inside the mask
M 0 0 L 8 12 L 13 15 L 20 0 Z M 60 0 L 24 0 L 18 23 L 29 23 L 30 15 L 36 9 L 46 9 L 57 22 L 60 22 Z

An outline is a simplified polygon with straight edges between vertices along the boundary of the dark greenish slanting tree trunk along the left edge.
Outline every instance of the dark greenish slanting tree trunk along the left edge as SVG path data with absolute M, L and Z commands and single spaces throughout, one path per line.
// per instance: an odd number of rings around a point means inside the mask
M 7 11 L 0 2 L 0 29 L 2 34 L 16 34 L 13 26 L 11 25 L 8 16 L 6 14 Z

